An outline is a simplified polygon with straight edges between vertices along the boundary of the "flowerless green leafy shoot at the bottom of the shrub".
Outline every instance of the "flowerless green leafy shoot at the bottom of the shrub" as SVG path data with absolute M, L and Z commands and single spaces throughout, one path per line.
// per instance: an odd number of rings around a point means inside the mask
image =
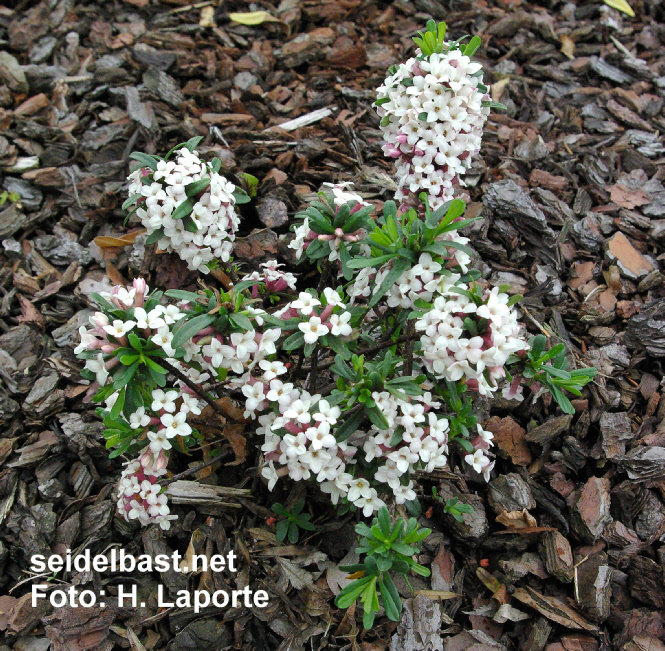
M 431 529 L 418 526 L 415 518 L 391 520 L 388 509 L 379 509 L 371 527 L 360 522 L 356 525 L 360 539 L 357 554 L 365 560 L 353 565 L 342 565 L 341 570 L 351 572 L 353 579 L 335 599 L 339 608 L 348 608 L 360 599 L 363 605 L 363 626 L 369 629 L 381 605 L 388 619 L 398 622 L 402 612 L 402 599 L 391 573 L 401 574 L 409 584 L 410 572 L 429 576 L 430 571 L 418 564 L 414 556 L 420 551 L 420 543 L 429 536 Z M 409 584 L 410 586 L 410 584 Z

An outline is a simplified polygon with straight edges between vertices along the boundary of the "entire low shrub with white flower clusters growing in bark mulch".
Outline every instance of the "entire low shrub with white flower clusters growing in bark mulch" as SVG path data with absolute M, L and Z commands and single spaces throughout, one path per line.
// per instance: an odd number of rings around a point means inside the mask
M 445 26 L 428 24 L 416 56 L 379 89 L 399 203 L 387 201 L 377 216 L 349 184 L 326 184 L 296 215 L 290 246 L 300 262 L 317 265 L 317 287 L 296 291 L 296 277 L 277 261 L 225 292 L 149 293 L 138 279 L 93 295 L 100 311 L 76 348 L 104 405 L 111 454 L 135 458 L 119 485 L 126 519 L 170 527 L 160 478 L 173 450 L 187 452 L 202 438 L 196 417 L 223 391 L 257 423 L 270 490 L 287 476 L 315 480 L 341 512 L 379 512 L 373 538 L 365 525 L 360 533 L 382 558 L 365 562 L 369 580 L 341 600 L 367 591 L 367 621 L 378 611 L 377 585 L 390 597 L 388 616 L 399 615 L 385 573 L 417 567 L 405 557 L 422 539 L 411 522 L 393 526 L 386 507 L 415 508 L 416 473 L 446 467 L 453 453 L 490 479 L 492 434 L 477 422 L 475 397 L 502 389 L 519 399 L 524 382 L 534 393 L 549 389 L 572 413 L 564 390 L 580 395 L 595 373 L 568 371 L 562 345 L 548 351 L 544 337 L 527 342 L 515 307 L 521 297 L 470 268 L 474 253 L 459 230 L 472 220 L 452 192 L 491 103 L 469 58 L 479 40 L 464 46 L 444 36 Z M 198 141 L 164 159 L 133 154 L 141 167 L 129 177 L 125 206 L 135 206 L 149 241 L 205 273 L 229 261 L 234 205 L 248 198 L 219 176 L 218 161 L 199 158 Z M 282 539 L 313 526 L 299 510 L 276 512 L 286 518 Z M 383 549 L 393 534 L 404 538 L 401 547 Z M 390 563 L 389 548 L 397 553 Z

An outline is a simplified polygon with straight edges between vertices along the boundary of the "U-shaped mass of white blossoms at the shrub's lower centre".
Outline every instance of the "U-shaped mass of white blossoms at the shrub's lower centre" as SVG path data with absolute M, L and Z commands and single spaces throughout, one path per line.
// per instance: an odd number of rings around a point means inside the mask
M 400 400 L 374 392 L 388 428 L 356 430 L 347 442 L 336 436 L 338 406 L 292 384 L 273 382 L 266 399 L 276 413 L 260 416 L 257 430 L 265 437 L 262 475 L 271 490 L 284 471 L 295 481 L 316 477 L 333 504 L 345 498 L 370 516 L 385 504 L 377 487 L 403 504 L 416 497 L 411 479 L 416 469 L 431 472 L 447 463 L 448 420 L 430 411 L 440 406 L 430 394 Z

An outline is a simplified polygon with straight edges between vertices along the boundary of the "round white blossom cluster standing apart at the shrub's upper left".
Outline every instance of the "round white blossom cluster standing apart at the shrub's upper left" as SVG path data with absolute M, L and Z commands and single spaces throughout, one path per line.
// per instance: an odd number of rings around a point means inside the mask
M 144 179 L 152 174 L 152 182 Z M 209 185 L 192 197 L 187 186 L 210 179 Z M 153 172 L 140 168 L 129 175 L 129 194 L 141 195 L 136 214 L 148 235 L 161 232 L 158 246 L 175 251 L 189 269 L 208 273 L 208 263 L 227 262 L 233 248 L 239 219 L 235 211 L 233 183 L 213 171 L 196 151 L 181 148 L 173 160 L 157 162 Z M 173 219 L 185 201 L 191 202 L 189 214 Z

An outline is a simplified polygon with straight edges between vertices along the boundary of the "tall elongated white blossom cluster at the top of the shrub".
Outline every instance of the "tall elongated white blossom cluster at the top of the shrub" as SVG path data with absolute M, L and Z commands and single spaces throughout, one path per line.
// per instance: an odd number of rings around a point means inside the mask
M 416 207 L 414 195 L 425 191 L 436 209 L 463 185 L 490 112 L 481 71 L 460 50 L 434 53 L 400 64 L 377 89 L 383 151 L 395 159 L 403 206 Z

